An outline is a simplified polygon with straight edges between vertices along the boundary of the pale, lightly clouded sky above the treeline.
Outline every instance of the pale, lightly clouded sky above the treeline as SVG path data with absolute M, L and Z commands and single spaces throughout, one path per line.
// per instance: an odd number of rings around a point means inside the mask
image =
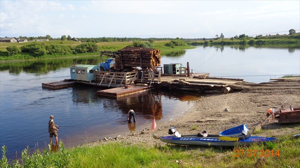
M 300 0 L 0 0 L 0 37 L 225 38 L 300 29 Z

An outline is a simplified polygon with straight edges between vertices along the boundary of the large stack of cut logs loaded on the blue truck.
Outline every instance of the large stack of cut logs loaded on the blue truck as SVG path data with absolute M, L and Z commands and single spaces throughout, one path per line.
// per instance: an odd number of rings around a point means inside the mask
M 160 51 L 153 48 L 124 47 L 118 50 L 119 56 L 115 58 L 117 68 L 141 67 L 142 69 L 160 66 Z

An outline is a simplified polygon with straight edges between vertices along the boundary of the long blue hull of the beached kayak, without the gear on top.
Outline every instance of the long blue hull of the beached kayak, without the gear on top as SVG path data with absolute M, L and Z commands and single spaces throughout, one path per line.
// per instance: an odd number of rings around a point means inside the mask
M 187 135 L 181 137 L 165 136 L 160 137 L 160 141 L 169 144 L 177 145 L 189 145 L 189 146 L 218 146 L 218 147 L 234 147 L 234 146 L 248 146 L 254 143 L 274 142 L 278 138 L 269 137 L 255 137 L 249 136 L 245 139 L 239 139 L 238 141 L 222 141 L 218 139 L 218 135 L 208 135 L 207 137 L 196 137 L 196 135 Z

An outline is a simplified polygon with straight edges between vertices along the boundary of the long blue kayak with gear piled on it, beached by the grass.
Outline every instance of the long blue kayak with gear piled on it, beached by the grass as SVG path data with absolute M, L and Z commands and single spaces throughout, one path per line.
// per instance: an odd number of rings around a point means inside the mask
M 278 140 L 278 138 L 275 137 L 256 137 L 248 135 L 248 127 L 245 124 L 220 132 L 219 135 L 208 134 L 207 137 L 199 137 L 199 134 L 180 135 L 173 127 L 171 127 L 170 130 L 172 130 L 173 135 L 159 137 L 160 141 L 177 145 L 234 147 Z

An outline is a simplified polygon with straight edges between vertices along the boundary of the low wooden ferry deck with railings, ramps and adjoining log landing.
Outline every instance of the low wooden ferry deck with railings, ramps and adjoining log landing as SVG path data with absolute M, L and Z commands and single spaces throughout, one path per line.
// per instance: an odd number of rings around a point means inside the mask
M 65 79 L 59 82 L 42 83 L 43 88 L 61 89 L 76 86 L 79 84 L 86 84 L 90 86 L 103 86 L 112 89 L 100 90 L 96 94 L 106 97 L 123 97 L 126 95 L 142 92 L 152 89 L 165 87 L 169 90 L 184 90 L 195 91 L 201 93 L 229 93 L 233 85 L 243 79 L 230 79 L 230 78 L 216 78 L 208 77 L 209 73 L 193 74 L 192 77 L 177 76 L 177 75 L 160 75 L 160 71 L 142 72 L 141 77 L 138 78 L 137 72 L 99 72 L 96 77 L 97 80 L 93 81 L 76 81 Z M 148 86 L 133 86 L 132 84 L 142 83 Z

